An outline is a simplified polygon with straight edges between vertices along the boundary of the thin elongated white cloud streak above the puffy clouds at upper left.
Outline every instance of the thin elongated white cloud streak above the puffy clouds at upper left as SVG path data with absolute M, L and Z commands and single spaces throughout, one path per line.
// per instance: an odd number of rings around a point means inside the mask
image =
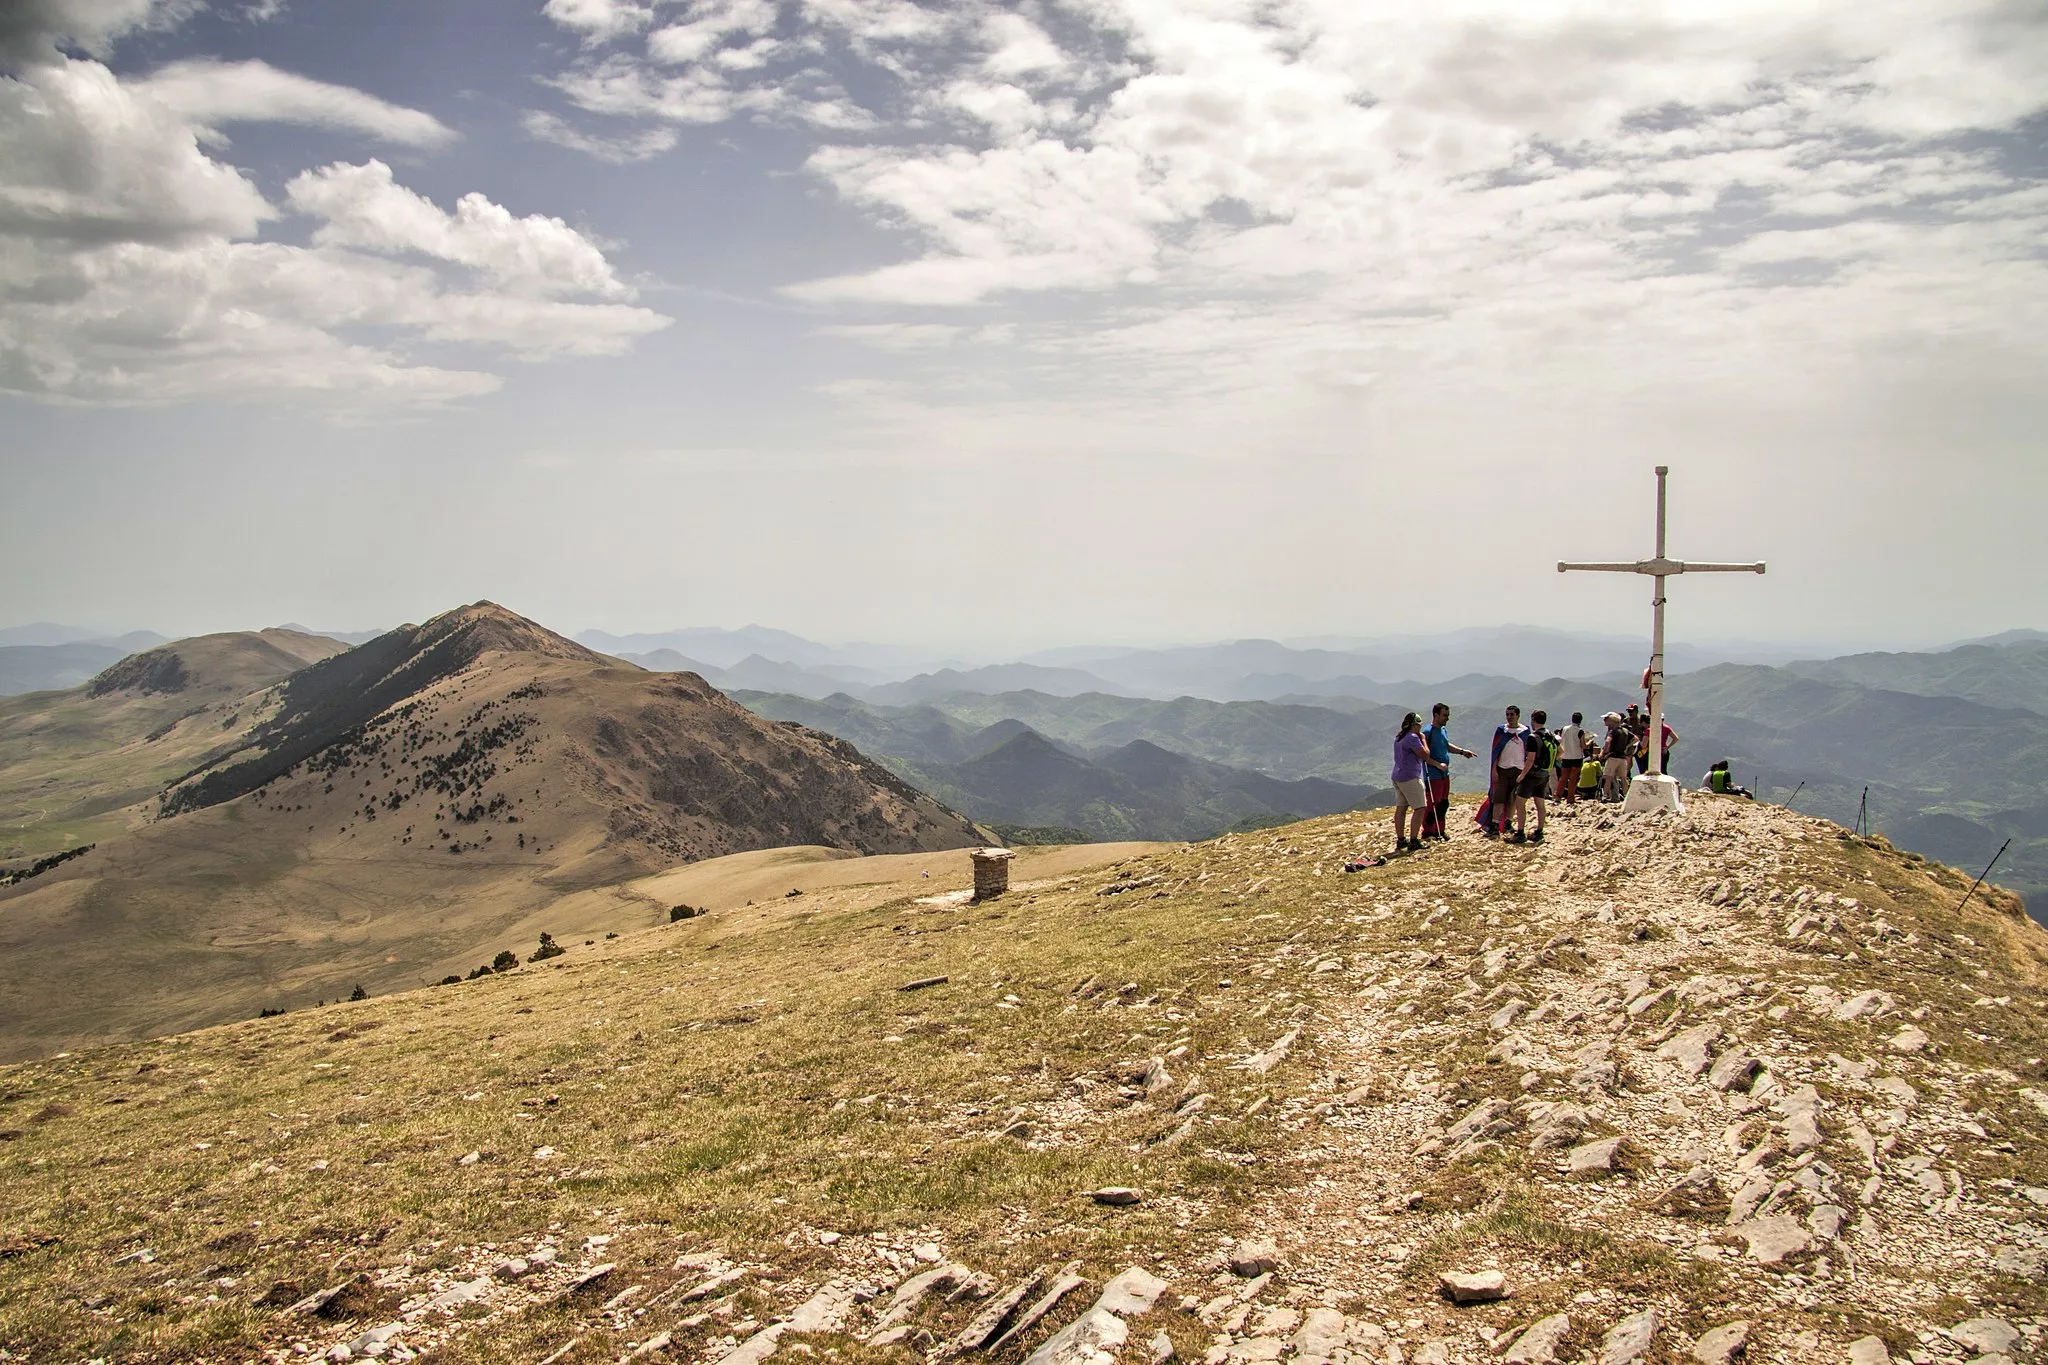
M 455 131 L 434 115 L 281 72 L 266 61 L 174 61 L 133 88 L 201 127 L 311 123 L 410 147 L 440 147 Z

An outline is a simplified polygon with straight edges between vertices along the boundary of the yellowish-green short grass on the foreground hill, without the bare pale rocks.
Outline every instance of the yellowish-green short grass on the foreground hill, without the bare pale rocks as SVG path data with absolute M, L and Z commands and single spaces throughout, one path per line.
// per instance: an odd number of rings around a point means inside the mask
M 1853 884 L 1903 929 L 1939 941 L 1968 929 L 1980 945 L 1956 980 L 1901 968 L 1872 982 L 1929 1007 L 1925 1027 L 1966 1068 L 2038 1060 L 2036 1015 L 2015 1021 L 2023 1038 L 1995 1042 L 1968 1031 L 1968 995 L 2038 995 L 2040 933 L 2009 905 L 1956 919 L 1956 874 L 1821 833 L 1792 876 Z M 756 1297 L 678 1328 L 680 1347 L 737 1314 L 766 1318 L 827 1275 L 817 1230 L 930 1236 L 991 1273 L 1079 1257 L 1100 1277 L 1145 1259 L 1198 1281 L 1202 1248 L 1255 1197 L 1313 1175 L 1276 1115 L 1300 1115 L 1333 1085 L 1309 1044 L 1266 1076 L 1231 1060 L 1346 997 L 1341 974 L 1315 970 L 1325 954 L 1411 972 L 1427 954 L 1409 950 L 1462 956 L 1497 933 L 1491 892 L 1473 900 L 1470 882 L 1432 876 L 1430 862 L 1331 876 L 1360 839 L 1378 843 L 1378 823 L 1331 817 L 1153 851 L 1118 872 L 1163 880 L 1118 896 L 1096 894 L 1104 874 L 981 907 L 821 888 L 473 984 L 0 1068 L 12 1138 L 0 1142 L 12 1238 L 0 1246 L 0 1345 L 109 1361 L 324 1347 L 387 1320 L 399 1291 L 344 1302 L 356 1326 L 274 1306 L 350 1271 L 391 1283 L 475 1273 L 477 1248 L 543 1234 L 565 1246 L 616 1236 L 604 1250 L 623 1267 L 612 1285 L 674 1283 L 676 1252 L 707 1246 L 766 1267 Z M 1509 878 L 1507 860 L 1524 857 L 1483 853 L 1503 855 L 1493 866 Z M 1628 882 L 1614 886 L 1626 902 Z M 1427 937 L 1413 917 L 1360 913 L 1432 896 L 1452 909 Z M 950 984 L 899 990 L 934 974 Z M 1090 978 L 1108 990 L 1077 995 Z M 1421 1003 L 1417 1023 L 1458 1009 L 1448 990 Z M 1210 1121 L 1198 1142 L 1147 1146 L 1171 1115 L 1124 1103 L 1114 1085 L 1174 1046 L 1186 1048 L 1178 1076 L 1200 1074 L 1214 1097 Z M 1495 1072 L 1481 1085 L 1511 1089 L 1511 1072 Z M 1051 1138 L 995 1138 L 1012 1111 Z M 537 1160 L 539 1148 L 553 1156 Z M 457 1164 L 471 1150 L 485 1156 Z M 1456 1218 L 1511 1195 L 1516 1218 L 1468 1224 L 1466 1244 L 1552 1228 L 1518 1171 L 1446 1169 L 1415 1207 Z M 2001 1173 L 2048 1183 L 2048 1148 L 2030 1138 Z M 1139 1185 L 1147 1201 L 1118 1212 L 1079 1195 L 1102 1183 Z M 1714 1271 L 1661 1246 L 1595 1230 L 1567 1240 L 1583 1259 L 1575 1271 L 1612 1265 L 1714 1295 Z M 125 1259 L 139 1248 L 154 1259 Z M 1178 1314 L 1165 1324 L 1184 1355 L 1200 1353 L 1206 1328 Z M 631 1328 L 553 1297 L 436 1359 L 532 1361 L 575 1332 L 571 1359 L 596 1361 L 616 1359 Z

